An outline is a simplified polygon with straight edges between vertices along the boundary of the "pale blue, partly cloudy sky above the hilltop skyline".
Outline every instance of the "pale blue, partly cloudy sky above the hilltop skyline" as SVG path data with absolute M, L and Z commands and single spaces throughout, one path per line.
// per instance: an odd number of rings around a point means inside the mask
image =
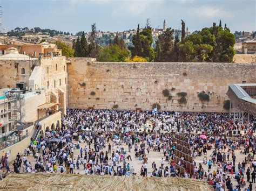
M 190 31 L 227 24 L 231 32 L 256 30 L 255 0 L 0 0 L 2 27 L 41 27 L 76 33 L 89 32 L 96 23 L 100 31 L 124 31 L 145 27 L 181 29 L 181 19 Z

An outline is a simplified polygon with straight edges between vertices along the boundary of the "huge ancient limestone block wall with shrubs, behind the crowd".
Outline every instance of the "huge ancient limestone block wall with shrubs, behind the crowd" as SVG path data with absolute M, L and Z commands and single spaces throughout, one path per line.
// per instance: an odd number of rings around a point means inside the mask
M 222 112 L 228 84 L 256 83 L 255 63 L 115 63 L 72 58 L 68 64 L 69 108 Z M 162 93 L 170 91 L 169 100 Z M 210 101 L 200 101 L 204 91 Z M 95 92 L 95 95 L 92 95 Z M 186 92 L 186 104 L 177 93 Z

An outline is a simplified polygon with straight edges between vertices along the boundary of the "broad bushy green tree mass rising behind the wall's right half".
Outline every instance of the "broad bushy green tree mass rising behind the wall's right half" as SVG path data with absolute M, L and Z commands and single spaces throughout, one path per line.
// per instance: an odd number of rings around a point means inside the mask
M 232 62 L 235 37 L 226 27 L 213 23 L 178 43 L 178 58 L 182 62 Z

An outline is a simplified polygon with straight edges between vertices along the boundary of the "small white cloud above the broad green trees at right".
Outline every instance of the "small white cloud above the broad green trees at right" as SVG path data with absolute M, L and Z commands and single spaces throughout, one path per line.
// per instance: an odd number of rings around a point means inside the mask
M 206 18 L 233 18 L 234 15 L 230 11 L 210 6 L 201 6 L 199 8 L 192 8 L 191 13 L 193 16 L 206 17 Z

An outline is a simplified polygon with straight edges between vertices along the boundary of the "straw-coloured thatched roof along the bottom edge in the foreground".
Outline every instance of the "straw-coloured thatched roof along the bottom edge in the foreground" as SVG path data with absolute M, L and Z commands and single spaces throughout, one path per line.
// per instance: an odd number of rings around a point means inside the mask
M 9 174 L 0 181 L 4 190 L 212 190 L 206 181 L 142 176 L 82 174 Z

